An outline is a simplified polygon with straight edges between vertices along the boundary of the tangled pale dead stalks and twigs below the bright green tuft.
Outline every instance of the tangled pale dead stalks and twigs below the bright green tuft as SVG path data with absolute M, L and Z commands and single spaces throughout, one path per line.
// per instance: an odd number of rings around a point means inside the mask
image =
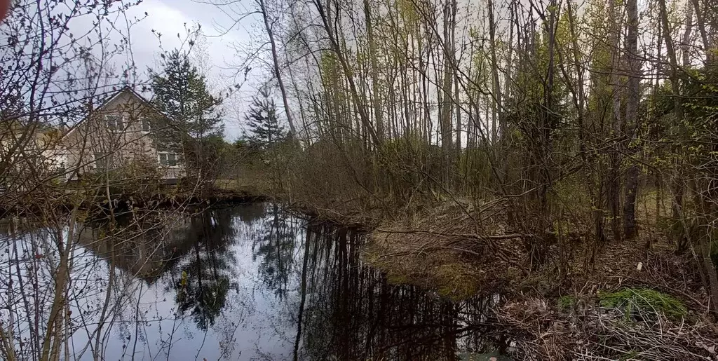
M 635 319 L 594 304 L 559 312 L 544 299 L 512 301 L 497 311 L 520 335 L 518 360 L 716 360 L 717 330 L 703 322 L 656 314 Z

